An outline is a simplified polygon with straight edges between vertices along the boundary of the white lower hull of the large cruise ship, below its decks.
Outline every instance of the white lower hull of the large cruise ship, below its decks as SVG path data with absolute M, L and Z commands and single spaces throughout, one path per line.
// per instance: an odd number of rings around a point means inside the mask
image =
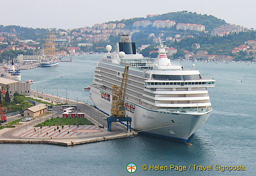
M 111 112 L 111 100 L 101 97 L 101 92 L 97 87 L 91 85 L 91 99 L 94 105 L 105 112 Z M 111 94 L 110 92 L 106 92 Z M 211 111 L 205 113 L 177 113 L 161 112 L 147 109 L 141 105 L 125 100 L 135 107 L 134 112 L 126 111 L 126 114 L 132 117 L 132 128 L 137 131 L 150 133 L 161 137 L 173 138 L 187 142 L 188 138 L 193 135 L 203 123 L 208 119 Z

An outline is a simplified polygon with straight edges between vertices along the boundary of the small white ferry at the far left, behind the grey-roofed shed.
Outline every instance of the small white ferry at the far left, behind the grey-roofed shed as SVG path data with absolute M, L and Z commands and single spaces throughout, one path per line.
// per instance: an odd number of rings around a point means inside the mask
M 12 65 L 10 67 L 4 67 L 2 77 L 14 81 L 22 81 L 22 73 L 18 68 L 15 68 L 13 60 Z

